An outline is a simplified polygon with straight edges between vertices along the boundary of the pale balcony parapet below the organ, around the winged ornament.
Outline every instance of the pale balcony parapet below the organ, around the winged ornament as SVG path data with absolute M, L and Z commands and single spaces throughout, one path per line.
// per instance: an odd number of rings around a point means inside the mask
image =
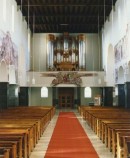
M 52 87 L 52 81 L 57 79 L 56 76 L 59 72 L 28 72 L 28 87 Z M 74 73 L 73 71 L 64 71 L 62 75 L 66 73 Z M 50 76 L 52 75 L 52 76 Z M 104 81 L 104 71 L 78 71 L 77 75 L 81 76 L 81 87 L 104 87 L 106 83 Z M 32 79 L 35 79 L 35 84 L 32 83 Z M 100 83 L 99 83 L 100 79 Z M 56 87 L 77 87 L 75 84 L 58 84 Z

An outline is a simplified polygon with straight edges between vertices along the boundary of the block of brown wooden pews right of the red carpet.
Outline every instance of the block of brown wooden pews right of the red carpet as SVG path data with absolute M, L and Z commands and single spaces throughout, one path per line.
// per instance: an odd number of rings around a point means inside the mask
M 78 111 L 115 158 L 130 157 L 130 109 L 79 106 Z

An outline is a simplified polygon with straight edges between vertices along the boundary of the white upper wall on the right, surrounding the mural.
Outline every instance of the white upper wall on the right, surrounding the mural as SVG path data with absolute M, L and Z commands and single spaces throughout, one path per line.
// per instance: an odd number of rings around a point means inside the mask
M 111 60 L 109 58 L 111 55 L 108 54 L 111 53 L 109 51 L 109 46 L 111 45 L 114 49 L 117 43 L 119 43 L 119 41 L 122 40 L 127 35 L 128 45 L 127 46 L 125 45 L 126 56 L 116 64 L 115 62 L 114 63 L 112 62 L 113 66 L 111 66 L 111 71 L 113 71 L 113 69 L 114 70 L 117 69 L 118 72 L 120 67 L 123 67 L 123 71 L 125 75 L 126 67 L 128 67 L 128 63 L 130 61 L 130 48 L 129 48 L 130 33 L 127 32 L 127 29 L 130 25 L 130 9 L 129 9 L 130 0 L 118 0 L 114 8 L 115 8 L 114 11 L 112 11 L 110 14 L 109 21 L 108 20 L 106 21 L 104 28 L 102 30 L 102 56 L 103 56 L 102 65 L 106 73 L 110 72 L 110 70 L 108 71 L 109 69 L 108 63 L 110 63 L 108 62 L 108 60 Z M 111 75 L 107 75 L 107 76 L 108 76 L 107 83 L 109 84 L 109 80 L 111 80 L 111 77 L 113 76 Z M 126 82 L 125 78 L 126 77 L 123 76 L 124 82 Z M 120 80 L 122 81 L 122 79 L 119 79 L 117 83 L 120 83 Z M 130 78 L 129 79 L 127 78 L 127 80 L 130 81 Z M 115 81 L 114 77 L 113 77 L 113 81 Z

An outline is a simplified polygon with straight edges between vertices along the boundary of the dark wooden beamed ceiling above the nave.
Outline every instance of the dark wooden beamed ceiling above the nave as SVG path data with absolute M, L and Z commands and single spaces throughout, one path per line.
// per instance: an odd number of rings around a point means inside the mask
M 32 32 L 97 33 L 117 0 L 16 0 Z

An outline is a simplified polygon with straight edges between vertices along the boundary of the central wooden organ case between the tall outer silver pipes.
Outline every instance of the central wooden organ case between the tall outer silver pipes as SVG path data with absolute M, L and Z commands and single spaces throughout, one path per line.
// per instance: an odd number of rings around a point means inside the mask
M 49 39 L 53 37 L 53 70 L 79 70 L 79 39 L 83 36 L 70 36 L 68 33 L 60 36 L 49 35 Z

